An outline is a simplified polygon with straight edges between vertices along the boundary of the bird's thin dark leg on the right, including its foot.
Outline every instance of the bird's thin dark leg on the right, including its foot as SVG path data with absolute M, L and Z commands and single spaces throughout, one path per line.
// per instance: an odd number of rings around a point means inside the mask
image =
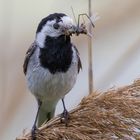
M 64 120 L 65 125 L 67 126 L 67 125 L 68 125 L 68 119 L 69 119 L 69 112 L 68 112 L 67 109 L 66 109 L 64 99 L 62 99 L 62 103 L 63 103 L 64 111 L 63 111 L 63 113 L 61 114 L 61 122 L 63 122 L 63 120 Z

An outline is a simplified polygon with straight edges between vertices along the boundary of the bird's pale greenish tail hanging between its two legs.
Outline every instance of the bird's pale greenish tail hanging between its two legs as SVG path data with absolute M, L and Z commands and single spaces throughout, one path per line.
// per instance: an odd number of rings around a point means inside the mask
M 57 102 L 46 101 L 41 105 L 38 115 L 38 127 L 54 117 Z

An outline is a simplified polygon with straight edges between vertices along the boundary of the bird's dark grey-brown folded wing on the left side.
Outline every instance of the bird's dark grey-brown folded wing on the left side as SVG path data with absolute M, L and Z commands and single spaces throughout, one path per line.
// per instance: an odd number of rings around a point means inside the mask
M 27 72 L 27 67 L 28 67 L 30 57 L 34 53 L 36 47 L 37 47 L 37 44 L 34 42 L 26 52 L 26 56 L 25 56 L 24 63 L 23 63 L 23 72 L 24 72 L 25 75 L 26 75 L 26 72 Z

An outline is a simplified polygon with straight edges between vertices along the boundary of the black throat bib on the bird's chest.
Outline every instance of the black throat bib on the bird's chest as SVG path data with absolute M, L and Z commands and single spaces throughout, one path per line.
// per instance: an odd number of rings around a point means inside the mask
M 54 74 L 66 72 L 72 61 L 72 44 L 69 36 L 57 38 L 47 36 L 45 47 L 40 48 L 40 64 Z

